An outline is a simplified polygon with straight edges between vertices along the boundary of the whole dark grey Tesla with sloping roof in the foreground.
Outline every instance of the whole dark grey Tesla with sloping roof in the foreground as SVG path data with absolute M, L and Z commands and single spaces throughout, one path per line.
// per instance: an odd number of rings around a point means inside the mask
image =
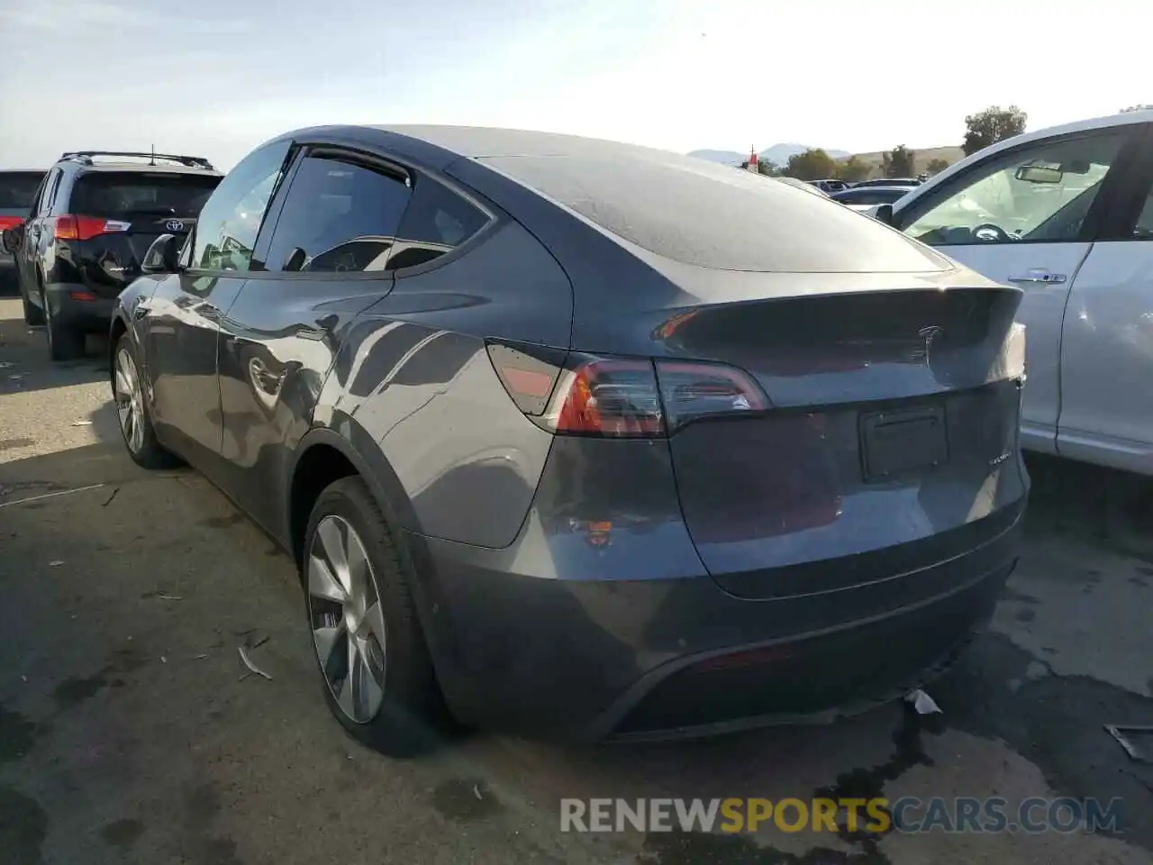
M 786 183 L 304 129 L 145 271 L 129 454 L 291 551 L 324 699 L 389 753 L 857 710 L 948 664 L 1017 557 L 1020 291 Z

